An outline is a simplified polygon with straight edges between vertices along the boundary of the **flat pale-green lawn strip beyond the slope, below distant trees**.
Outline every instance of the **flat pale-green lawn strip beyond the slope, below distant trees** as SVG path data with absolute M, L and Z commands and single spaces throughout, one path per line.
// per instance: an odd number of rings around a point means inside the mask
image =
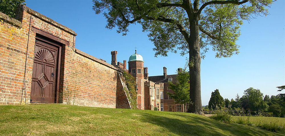
M 245 116 L 232 116 L 232 120 L 236 121 L 238 118 L 248 118 Z M 278 118 L 278 117 L 249 117 L 249 121 L 258 124 L 258 123 L 277 123 L 277 124 L 285 124 L 285 118 Z

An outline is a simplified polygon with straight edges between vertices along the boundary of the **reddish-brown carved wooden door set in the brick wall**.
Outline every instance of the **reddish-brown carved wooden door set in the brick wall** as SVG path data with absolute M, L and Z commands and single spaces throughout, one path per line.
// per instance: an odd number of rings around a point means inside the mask
M 36 39 L 30 102 L 54 103 L 59 48 Z

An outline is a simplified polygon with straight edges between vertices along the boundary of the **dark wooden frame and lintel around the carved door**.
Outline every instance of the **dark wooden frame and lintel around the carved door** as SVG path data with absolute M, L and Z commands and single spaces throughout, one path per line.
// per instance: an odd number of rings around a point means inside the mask
M 58 56 L 57 56 L 58 60 L 57 60 L 57 64 L 56 64 L 57 65 L 56 66 L 57 74 L 56 74 L 56 80 L 55 80 L 55 85 L 56 85 L 55 89 L 56 90 L 54 91 L 55 92 L 55 94 L 54 94 L 55 95 L 54 103 L 58 103 L 58 101 L 59 101 L 59 93 L 60 93 L 60 91 L 59 91 L 59 89 L 60 89 L 59 88 L 59 85 L 60 85 L 60 70 L 61 70 L 60 66 L 61 66 L 61 59 L 62 59 L 61 58 L 62 57 L 62 55 L 61 55 L 61 53 L 62 53 L 61 48 L 63 46 L 69 45 L 69 42 L 66 41 L 66 40 L 60 39 L 60 38 L 58 38 L 58 37 L 56 37 L 54 35 L 48 34 L 47 32 L 44 32 L 42 30 L 34 28 L 34 27 L 32 27 L 32 31 L 36 33 L 35 40 L 44 41 L 44 42 L 49 43 L 49 44 L 51 44 L 51 45 L 53 45 L 55 47 L 58 47 Z M 39 37 L 42 37 L 42 38 L 39 38 Z M 52 43 L 53 41 L 55 41 L 55 43 L 58 43 L 58 44 Z

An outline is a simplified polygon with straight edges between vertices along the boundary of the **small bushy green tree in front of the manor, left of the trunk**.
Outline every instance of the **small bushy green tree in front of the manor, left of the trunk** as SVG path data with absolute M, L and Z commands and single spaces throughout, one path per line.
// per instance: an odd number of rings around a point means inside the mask
M 169 81 L 169 89 L 171 89 L 174 93 L 167 92 L 167 94 L 172 99 L 174 99 L 175 102 L 184 105 L 184 111 L 185 111 L 186 103 L 190 103 L 188 81 L 189 81 L 189 74 L 186 71 L 186 69 L 177 71 L 175 83 L 172 83 Z

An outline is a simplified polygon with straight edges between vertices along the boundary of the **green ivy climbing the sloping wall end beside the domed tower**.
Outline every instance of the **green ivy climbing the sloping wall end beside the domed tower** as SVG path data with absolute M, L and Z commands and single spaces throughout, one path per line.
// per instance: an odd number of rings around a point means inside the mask
M 124 91 L 131 103 L 132 109 L 137 109 L 137 83 L 135 78 L 127 73 L 123 72 L 123 81 L 127 85 L 127 89 L 124 87 Z

